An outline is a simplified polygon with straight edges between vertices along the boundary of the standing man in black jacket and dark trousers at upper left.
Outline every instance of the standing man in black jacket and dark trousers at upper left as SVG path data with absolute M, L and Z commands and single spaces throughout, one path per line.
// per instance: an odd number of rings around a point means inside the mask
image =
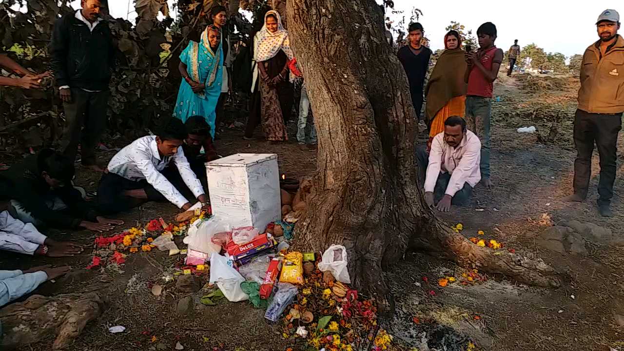
M 100 0 L 81 5 L 57 19 L 52 33 L 52 69 L 66 114 L 61 147 L 73 161 L 80 144 L 82 164 L 101 172 L 94 149 L 106 127 L 115 48 L 109 24 L 99 16 Z

